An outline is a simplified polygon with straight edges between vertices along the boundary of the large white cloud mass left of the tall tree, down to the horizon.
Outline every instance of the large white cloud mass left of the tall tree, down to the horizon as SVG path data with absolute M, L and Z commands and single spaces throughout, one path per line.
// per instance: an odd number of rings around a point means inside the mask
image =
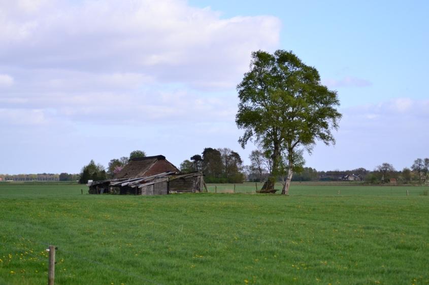
M 112 150 L 180 163 L 207 144 L 238 148 L 235 86 L 280 33 L 276 17 L 221 18 L 182 0 L 0 0 L 0 27 L 0 74 L 13 74 L 7 89 L 0 80 L 14 138 L 0 143 L 3 172 L 78 171 Z

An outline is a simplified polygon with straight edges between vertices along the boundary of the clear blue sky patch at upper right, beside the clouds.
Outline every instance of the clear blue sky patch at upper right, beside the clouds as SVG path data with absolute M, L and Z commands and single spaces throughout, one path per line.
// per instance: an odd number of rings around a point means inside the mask
M 279 48 L 317 67 L 322 78 L 352 76 L 364 88 L 340 88 L 344 107 L 397 97 L 427 99 L 429 21 L 425 1 L 190 1 L 222 17 L 272 15 Z M 347 86 L 349 87 L 349 86 Z

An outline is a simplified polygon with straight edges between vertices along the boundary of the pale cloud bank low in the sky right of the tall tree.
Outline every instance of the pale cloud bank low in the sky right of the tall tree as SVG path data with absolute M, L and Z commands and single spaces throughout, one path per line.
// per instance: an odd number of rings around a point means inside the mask
M 333 147 L 318 145 L 307 165 L 318 170 L 374 169 L 383 162 L 398 170 L 427 156 L 429 100 L 396 98 L 342 109 Z

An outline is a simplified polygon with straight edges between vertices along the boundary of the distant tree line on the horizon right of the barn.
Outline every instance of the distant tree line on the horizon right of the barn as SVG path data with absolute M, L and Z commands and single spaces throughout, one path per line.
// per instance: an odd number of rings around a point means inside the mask
M 295 172 L 292 181 L 363 181 L 371 184 L 391 183 L 425 183 L 429 174 L 429 158 L 417 158 L 411 168 L 397 171 L 384 162 L 374 170 L 357 168 L 352 170 L 317 171 L 304 167 L 304 159 L 300 153 L 294 158 Z M 253 150 L 249 155 L 250 165 L 243 165 L 240 155 L 229 148 L 205 148 L 202 155 L 195 154 L 180 164 L 182 172 L 202 171 L 207 183 L 241 183 L 265 182 L 272 175 L 272 159 L 269 152 L 260 149 Z M 287 168 L 286 159 L 280 161 L 277 171 L 277 181 L 285 182 Z M 280 170 L 280 171 L 279 171 Z

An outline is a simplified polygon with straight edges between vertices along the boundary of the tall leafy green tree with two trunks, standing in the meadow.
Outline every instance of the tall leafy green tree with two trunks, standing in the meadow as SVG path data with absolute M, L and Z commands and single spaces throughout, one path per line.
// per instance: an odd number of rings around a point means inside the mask
M 239 142 L 245 147 L 252 140 L 270 152 L 270 188 L 274 187 L 282 157 L 286 157 L 282 194 L 287 194 L 299 150 L 310 151 L 316 141 L 335 143 L 332 131 L 338 129 L 341 118 L 337 92 L 321 84 L 316 68 L 283 50 L 274 54 L 253 52 L 250 71 L 244 74 L 237 91 L 240 103 L 236 123 L 244 130 Z

